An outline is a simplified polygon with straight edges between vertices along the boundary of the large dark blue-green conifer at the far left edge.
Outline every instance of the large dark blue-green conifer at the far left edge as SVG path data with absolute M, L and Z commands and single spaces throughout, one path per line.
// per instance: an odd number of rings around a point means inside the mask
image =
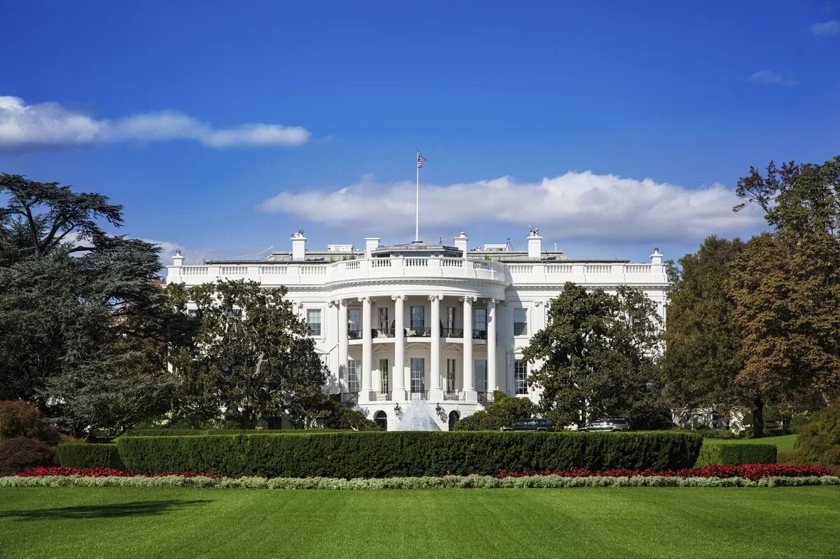
M 77 436 L 158 413 L 173 323 L 159 248 L 105 232 L 122 223 L 106 196 L 7 174 L 0 192 L 0 397 Z

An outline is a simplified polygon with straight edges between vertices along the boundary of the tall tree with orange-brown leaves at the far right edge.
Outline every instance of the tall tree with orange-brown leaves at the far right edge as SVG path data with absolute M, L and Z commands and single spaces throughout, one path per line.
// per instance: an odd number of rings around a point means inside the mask
M 738 382 L 753 393 L 761 436 L 768 400 L 840 394 L 840 157 L 822 165 L 770 162 L 738 181 L 735 207 L 755 204 L 774 228 L 732 264 L 730 290 L 743 331 Z

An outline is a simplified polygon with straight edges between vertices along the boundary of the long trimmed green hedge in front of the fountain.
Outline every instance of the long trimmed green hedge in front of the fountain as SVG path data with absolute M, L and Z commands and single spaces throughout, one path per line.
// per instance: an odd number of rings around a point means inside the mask
M 302 436 L 129 436 L 131 472 L 391 478 L 589 468 L 690 468 L 702 445 L 687 433 L 500 431 L 312 433 Z

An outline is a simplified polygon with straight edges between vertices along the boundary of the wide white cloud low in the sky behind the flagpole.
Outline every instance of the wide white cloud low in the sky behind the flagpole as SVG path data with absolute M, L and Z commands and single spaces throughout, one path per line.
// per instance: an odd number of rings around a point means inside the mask
M 421 185 L 420 225 L 441 232 L 470 225 L 533 225 L 553 238 L 695 242 L 711 233 L 743 234 L 761 227 L 757 212 L 732 212 L 738 201 L 731 189 L 717 184 L 690 190 L 650 179 L 570 171 L 534 183 L 505 176 Z M 414 228 L 414 184 L 377 184 L 366 175 L 335 191 L 281 192 L 258 209 L 361 234 L 404 235 Z

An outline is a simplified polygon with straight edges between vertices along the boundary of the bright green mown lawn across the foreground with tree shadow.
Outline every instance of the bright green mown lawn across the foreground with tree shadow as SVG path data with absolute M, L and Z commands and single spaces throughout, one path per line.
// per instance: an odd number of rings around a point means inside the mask
M 6 557 L 827 557 L 840 491 L 0 488 Z

